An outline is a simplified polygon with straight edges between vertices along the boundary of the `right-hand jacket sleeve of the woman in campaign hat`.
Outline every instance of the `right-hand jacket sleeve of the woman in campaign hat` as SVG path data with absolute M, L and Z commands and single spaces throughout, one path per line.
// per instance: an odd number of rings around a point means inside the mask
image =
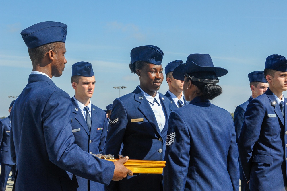
M 232 120 L 232 119 L 230 119 Z M 232 136 L 227 155 L 227 171 L 233 186 L 233 190 L 239 190 L 239 163 L 238 163 L 238 146 L 236 143 L 236 134 L 234 124 L 232 124 Z

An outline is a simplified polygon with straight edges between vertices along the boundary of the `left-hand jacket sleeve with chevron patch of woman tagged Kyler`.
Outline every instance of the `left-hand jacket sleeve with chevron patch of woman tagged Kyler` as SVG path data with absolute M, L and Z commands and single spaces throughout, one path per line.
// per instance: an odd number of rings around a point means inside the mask
M 104 154 L 112 154 L 115 158 L 118 158 L 127 127 L 127 112 L 123 102 L 119 98 L 113 102 L 110 119 Z

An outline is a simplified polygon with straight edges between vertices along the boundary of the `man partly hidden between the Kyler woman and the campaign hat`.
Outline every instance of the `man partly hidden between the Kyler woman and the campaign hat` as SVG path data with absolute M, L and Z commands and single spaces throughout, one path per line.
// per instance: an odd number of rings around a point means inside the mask
M 172 73 L 174 69 L 181 65 L 183 62 L 182 60 L 175 60 L 164 68 L 165 75 L 166 75 L 166 82 L 168 83 L 168 91 L 166 92 L 165 96 L 170 100 L 171 106 L 170 109 L 173 111 L 177 108 L 187 105 L 187 102 L 183 98 L 183 82 L 177 79 L 174 79 Z

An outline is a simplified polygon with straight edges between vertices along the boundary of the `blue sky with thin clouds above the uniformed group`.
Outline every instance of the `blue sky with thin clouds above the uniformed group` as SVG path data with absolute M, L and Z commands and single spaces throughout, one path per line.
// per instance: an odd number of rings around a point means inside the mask
M 271 54 L 287 56 L 287 1 L 0 1 L 0 116 L 27 84 L 32 64 L 20 32 L 38 22 L 68 25 L 67 64 L 54 83 L 74 95 L 71 66 L 92 63 L 96 85 L 92 103 L 104 109 L 119 96 L 114 86 L 132 92 L 139 79 L 128 68 L 130 51 L 155 45 L 163 67 L 189 54 L 210 54 L 223 93 L 212 103 L 234 112 L 251 95 L 247 74 L 264 70 Z M 164 80 L 160 92 L 165 94 Z M 286 93 L 284 93 L 285 95 Z M 287 94 L 286 94 L 287 96 Z

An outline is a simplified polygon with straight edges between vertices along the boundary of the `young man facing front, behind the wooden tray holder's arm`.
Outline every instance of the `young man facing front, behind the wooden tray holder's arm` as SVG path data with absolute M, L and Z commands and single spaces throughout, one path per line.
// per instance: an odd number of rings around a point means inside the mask
M 91 103 L 95 88 L 92 64 L 77 62 L 72 66 L 72 132 L 75 143 L 88 153 L 102 153 L 106 141 L 106 112 Z M 77 176 L 81 191 L 104 190 L 104 184 Z

